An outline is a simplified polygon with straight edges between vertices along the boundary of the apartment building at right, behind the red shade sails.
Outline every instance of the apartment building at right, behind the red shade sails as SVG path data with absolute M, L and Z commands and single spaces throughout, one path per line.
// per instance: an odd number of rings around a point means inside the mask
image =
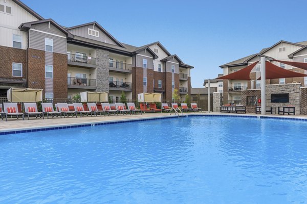
M 245 68 L 248 65 L 251 65 L 252 63 L 260 60 L 260 57 L 266 57 L 269 60 L 276 59 L 282 61 L 307 62 L 307 41 L 293 43 L 281 40 L 268 48 L 261 49 L 257 54 L 237 59 L 235 61 L 221 65 L 220 67 L 223 69 L 224 75 L 227 75 Z M 291 69 L 295 72 L 304 73 L 304 70 L 287 64 L 275 61 L 272 63 L 284 69 Z M 250 81 L 223 80 L 224 101 L 228 100 L 232 103 L 235 103 L 237 100 L 240 100 L 241 90 L 260 89 L 261 82 L 260 80 L 257 80 L 260 77 L 260 71 L 261 65 L 259 62 L 251 71 Z M 283 78 L 266 80 L 266 84 L 289 84 L 293 82 L 298 82 L 301 83 L 302 86 L 307 86 L 306 78 Z

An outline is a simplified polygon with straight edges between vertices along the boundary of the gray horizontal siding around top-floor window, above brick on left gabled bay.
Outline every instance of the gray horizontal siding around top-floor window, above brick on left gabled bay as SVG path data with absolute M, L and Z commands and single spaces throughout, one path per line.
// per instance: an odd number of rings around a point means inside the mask
M 53 39 L 53 52 L 66 54 L 66 38 L 29 31 L 29 48 L 45 50 L 45 38 Z

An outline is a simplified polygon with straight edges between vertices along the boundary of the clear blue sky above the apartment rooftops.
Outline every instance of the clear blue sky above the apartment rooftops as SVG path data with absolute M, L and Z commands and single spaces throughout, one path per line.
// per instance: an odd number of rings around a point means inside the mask
M 307 1 L 22 0 L 44 18 L 71 27 L 97 21 L 117 40 L 160 41 L 194 66 L 192 87 L 223 73 L 219 67 L 279 40 L 307 40 Z M 60 5 L 60 6 L 59 6 Z

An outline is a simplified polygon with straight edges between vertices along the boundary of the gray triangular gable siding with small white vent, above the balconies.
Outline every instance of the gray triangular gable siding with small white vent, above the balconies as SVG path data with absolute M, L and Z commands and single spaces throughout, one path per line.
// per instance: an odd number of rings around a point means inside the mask
M 89 39 L 92 39 L 92 40 L 97 40 L 97 41 L 105 42 L 105 43 L 108 43 L 108 44 L 117 45 L 111 38 L 109 38 L 107 35 L 105 35 L 97 27 L 95 27 L 94 30 L 99 32 L 99 37 L 89 35 L 88 29 L 93 29 L 93 25 L 85 25 L 84 27 L 71 29 L 71 30 L 69 30 L 69 32 L 73 35 L 76 35 L 76 36 L 89 38 Z

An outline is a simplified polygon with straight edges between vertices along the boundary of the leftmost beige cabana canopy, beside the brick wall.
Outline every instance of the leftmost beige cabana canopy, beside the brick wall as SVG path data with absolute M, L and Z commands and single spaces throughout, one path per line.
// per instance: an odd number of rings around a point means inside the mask
M 42 89 L 10 88 L 7 97 L 9 102 L 39 102 L 42 101 Z

